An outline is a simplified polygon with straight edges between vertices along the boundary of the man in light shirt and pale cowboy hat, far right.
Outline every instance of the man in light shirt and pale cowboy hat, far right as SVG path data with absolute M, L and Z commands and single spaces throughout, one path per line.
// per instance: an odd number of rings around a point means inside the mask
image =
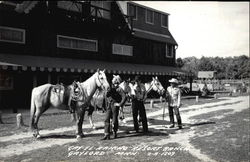
M 174 128 L 174 113 L 176 115 L 177 123 L 179 129 L 182 129 L 182 123 L 181 123 L 181 116 L 179 112 L 180 103 L 181 103 L 181 91 L 178 88 L 178 80 L 175 78 L 172 78 L 169 80 L 170 86 L 167 88 L 167 100 L 168 100 L 168 111 L 169 111 L 169 118 L 170 118 L 170 127 Z M 173 113 L 174 110 L 174 113 Z

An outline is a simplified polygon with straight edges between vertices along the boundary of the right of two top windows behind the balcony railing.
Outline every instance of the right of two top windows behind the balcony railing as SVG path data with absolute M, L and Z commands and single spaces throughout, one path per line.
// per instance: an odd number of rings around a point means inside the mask
M 109 1 L 91 1 L 91 15 L 110 19 L 111 3 Z

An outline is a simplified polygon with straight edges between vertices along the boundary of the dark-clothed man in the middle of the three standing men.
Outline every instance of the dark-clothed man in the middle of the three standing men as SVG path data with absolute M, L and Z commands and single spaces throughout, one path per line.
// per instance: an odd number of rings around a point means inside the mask
M 134 85 L 135 96 L 132 99 L 132 113 L 134 120 L 134 129 L 136 132 L 139 132 L 139 124 L 138 124 L 138 113 L 142 120 L 143 133 L 148 132 L 148 122 L 147 115 L 144 106 L 144 101 L 146 100 L 146 88 L 144 84 L 141 83 L 140 77 L 135 77 L 135 85 Z

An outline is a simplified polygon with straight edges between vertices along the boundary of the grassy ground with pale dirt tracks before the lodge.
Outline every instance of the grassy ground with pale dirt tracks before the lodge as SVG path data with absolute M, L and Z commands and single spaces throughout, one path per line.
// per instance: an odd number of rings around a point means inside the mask
M 149 105 L 147 105 L 148 109 Z M 158 107 L 158 108 L 157 108 Z M 133 131 L 132 118 L 121 123 L 117 139 L 101 141 L 103 114 L 96 114 L 92 130 L 83 126 L 85 137 L 77 140 L 69 114 L 41 118 L 42 138 L 37 140 L 11 124 L 1 131 L 2 161 L 248 161 L 249 96 L 224 97 L 217 102 L 183 105 L 184 129 L 169 129 L 162 109 L 148 111 L 150 133 Z M 25 123 L 28 119 L 25 118 Z M 85 122 L 87 123 L 87 122 Z M 4 124 L 6 127 L 7 124 Z

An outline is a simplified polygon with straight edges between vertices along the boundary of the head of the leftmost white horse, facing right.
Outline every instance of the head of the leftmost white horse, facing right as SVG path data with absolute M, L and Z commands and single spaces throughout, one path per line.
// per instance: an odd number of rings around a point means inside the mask
M 110 86 L 107 81 L 107 77 L 105 75 L 105 70 L 98 69 L 95 75 L 96 75 L 95 80 L 97 87 L 107 91 L 110 88 Z

